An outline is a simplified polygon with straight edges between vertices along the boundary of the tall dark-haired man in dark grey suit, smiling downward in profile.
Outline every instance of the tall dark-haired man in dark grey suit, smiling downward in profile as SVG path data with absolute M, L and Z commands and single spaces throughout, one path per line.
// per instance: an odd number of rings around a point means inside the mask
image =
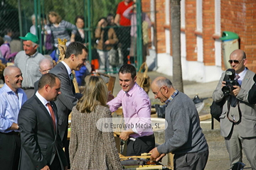
M 80 42 L 71 42 L 65 52 L 64 60 L 55 65 L 53 69 L 50 69 L 50 73 L 55 74 L 61 80 L 61 94 L 58 96 L 55 104 L 58 108 L 58 130 L 64 146 L 68 135 L 68 115 L 82 96 L 81 94 L 75 94 L 70 74 L 73 70 L 80 70 L 85 65 L 87 54 L 88 50 L 85 45 L 82 45 Z

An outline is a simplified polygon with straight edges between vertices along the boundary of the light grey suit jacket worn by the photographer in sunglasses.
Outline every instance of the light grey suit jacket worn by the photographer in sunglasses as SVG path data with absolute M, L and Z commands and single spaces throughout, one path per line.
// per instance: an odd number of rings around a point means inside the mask
M 238 112 L 238 105 L 235 107 L 230 106 L 229 118 L 235 121 L 238 121 L 238 132 L 241 137 L 255 137 L 256 136 L 256 105 L 248 103 L 247 97 L 248 92 L 250 91 L 255 81 L 253 81 L 255 73 L 247 69 L 244 79 L 242 80 L 241 89 L 236 98 L 240 102 L 240 111 L 242 113 L 242 118 L 240 120 L 240 115 Z M 215 91 L 213 91 L 213 101 L 221 101 L 224 98 L 222 89 L 222 81 L 225 73 L 220 77 L 218 86 Z M 228 97 L 225 97 L 225 104 L 223 106 L 223 112 L 220 115 L 220 135 L 223 137 L 228 137 L 230 131 L 233 128 L 233 122 L 228 120 Z M 233 115 L 233 116 L 232 116 Z

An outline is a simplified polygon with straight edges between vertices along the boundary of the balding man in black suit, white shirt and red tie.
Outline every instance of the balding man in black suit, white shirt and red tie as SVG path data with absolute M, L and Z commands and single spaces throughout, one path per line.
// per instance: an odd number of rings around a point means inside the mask
M 21 130 L 19 167 L 26 169 L 68 169 L 63 145 L 58 135 L 57 107 L 53 102 L 60 94 L 60 79 L 44 74 L 38 91 L 21 107 L 18 126 Z

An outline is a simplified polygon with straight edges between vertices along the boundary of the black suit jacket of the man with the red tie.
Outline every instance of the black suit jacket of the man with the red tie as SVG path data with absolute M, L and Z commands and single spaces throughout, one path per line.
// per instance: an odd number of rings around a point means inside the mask
M 57 107 L 50 102 L 58 123 Z M 58 126 L 53 128 L 53 120 L 43 103 L 33 95 L 18 113 L 18 126 L 21 130 L 21 157 L 19 169 L 42 169 L 51 165 L 58 154 L 61 168 L 67 166 L 63 144 L 58 135 Z

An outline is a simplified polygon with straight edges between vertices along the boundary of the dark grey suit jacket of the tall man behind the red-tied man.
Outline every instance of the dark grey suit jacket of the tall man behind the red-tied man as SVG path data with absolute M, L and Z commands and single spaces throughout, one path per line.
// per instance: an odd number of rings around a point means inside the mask
M 72 111 L 73 106 L 78 102 L 79 95 L 75 94 L 75 87 L 70 80 L 68 70 L 62 62 L 59 62 L 53 69 L 50 69 L 50 73 L 55 74 L 60 79 L 60 92 L 55 104 L 58 108 L 58 126 L 60 138 L 63 140 L 65 130 L 68 128 L 68 115 Z M 66 137 L 66 136 L 65 136 Z

